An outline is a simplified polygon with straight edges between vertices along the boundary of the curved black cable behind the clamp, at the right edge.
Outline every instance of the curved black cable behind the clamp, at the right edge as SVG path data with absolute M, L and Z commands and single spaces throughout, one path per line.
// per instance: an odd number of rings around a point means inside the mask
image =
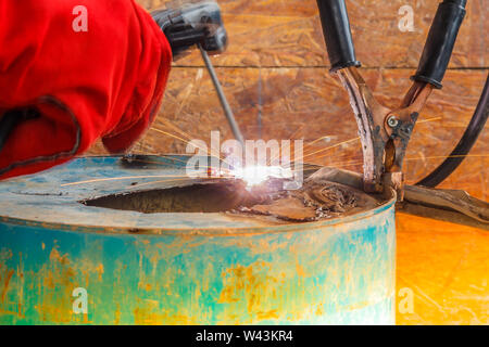
M 482 94 L 477 104 L 476 111 L 472 116 L 471 123 L 467 126 L 462 139 L 450 154 L 448 158 L 441 163 L 431 174 L 416 183 L 416 185 L 424 185 L 435 188 L 440 184 L 447 177 L 449 177 L 462 164 L 465 156 L 471 152 L 472 147 L 477 141 L 480 132 L 486 125 L 489 116 L 489 75 L 484 86 Z

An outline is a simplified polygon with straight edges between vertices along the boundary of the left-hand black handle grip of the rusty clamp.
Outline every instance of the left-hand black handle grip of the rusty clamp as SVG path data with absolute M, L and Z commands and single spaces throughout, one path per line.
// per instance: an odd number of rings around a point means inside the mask
M 331 73 L 349 66 L 359 67 L 344 0 L 317 0 Z

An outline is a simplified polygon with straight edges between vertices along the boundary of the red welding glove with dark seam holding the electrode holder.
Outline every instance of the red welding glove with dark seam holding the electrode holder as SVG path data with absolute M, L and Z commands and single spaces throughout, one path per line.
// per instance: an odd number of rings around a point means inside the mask
M 74 29 L 84 28 L 79 4 L 87 31 Z M 172 62 L 134 0 L 0 0 L 0 119 L 18 107 L 40 113 L 0 150 L 0 179 L 64 163 L 99 138 L 110 152 L 128 149 L 152 123 Z

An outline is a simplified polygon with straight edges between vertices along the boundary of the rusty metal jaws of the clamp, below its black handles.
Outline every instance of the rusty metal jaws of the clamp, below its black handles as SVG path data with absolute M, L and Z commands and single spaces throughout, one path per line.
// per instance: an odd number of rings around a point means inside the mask
M 414 82 L 400 108 L 389 110 L 373 95 L 356 67 L 335 74 L 347 89 L 359 126 L 364 158 L 364 189 L 383 192 L 392 187 L 402 200 L 402 164 L 419 112 L 432 86 Z

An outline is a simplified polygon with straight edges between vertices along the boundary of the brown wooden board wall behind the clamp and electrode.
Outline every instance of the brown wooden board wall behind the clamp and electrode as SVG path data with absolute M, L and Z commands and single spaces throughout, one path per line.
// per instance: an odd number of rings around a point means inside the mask
M 148 10 L 161 0 L 139 0 Z M 380 102 L 399 105 L 410 87 L 439 0 L 347 0 L 362 74 Z M 247 139 L 303 139 L 305 153 L 356 138 L 346 91 L 329 76 L 329 62 L 314 0 L 220 0 L 230 44 L 213 57 L 217 75 Z M 398 13 L 414 9 L 414 31 L 401 33 Z M 431 95 L 409 147 L 408 182 L 430 172 L 462 136 L 488 75 L 488 7 L 471 0 L 443 80 Z M 217 97 L 198 52 L 173 66 L 153 128 L 209 141 L 211 130 L 231 138 Z M 442 184 L 488 200 L 489 131 L 471 157 Z M 185 142 L 156 130 L 135 153 L 185 153 Z M 97 144 L 91 154 L 104 153 Z M 360 143 L 306 157 L 306 162 L 362 170 Z

